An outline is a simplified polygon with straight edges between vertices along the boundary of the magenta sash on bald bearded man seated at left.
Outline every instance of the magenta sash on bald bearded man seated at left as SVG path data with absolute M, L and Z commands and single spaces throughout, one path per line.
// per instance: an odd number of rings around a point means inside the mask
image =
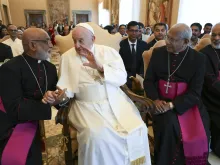
M 1 97 L 0 110 L 6 113 Z M 26 164 L 28 152 L 32 145 L 37 126 L 36 121 L 16 125 L 2 153 L 2 165 Z

